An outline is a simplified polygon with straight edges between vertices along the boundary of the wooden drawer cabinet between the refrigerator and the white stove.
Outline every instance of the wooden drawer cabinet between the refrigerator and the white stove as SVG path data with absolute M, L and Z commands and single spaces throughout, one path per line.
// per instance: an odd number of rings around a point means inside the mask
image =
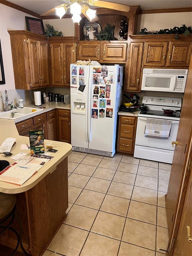
M 134 154 L 137 117 L 119 116 L 117 152 Z

